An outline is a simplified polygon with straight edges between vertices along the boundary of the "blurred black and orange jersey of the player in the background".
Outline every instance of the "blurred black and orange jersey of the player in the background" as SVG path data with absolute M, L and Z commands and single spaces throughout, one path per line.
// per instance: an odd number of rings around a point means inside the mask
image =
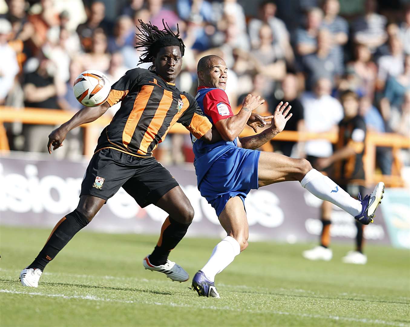
M 364 140 L 366 138 L 366 123 L 363 117 L 356 116 L 352 119 L 342 120 L 339 123 L 339 139 L 336 150 L 344 148 L 346 145 L 355 150 L 355 154 L 350 158 L 335 162 L 335 180 L 346 184 L 351 181 L 358 183 L 364 180 Z

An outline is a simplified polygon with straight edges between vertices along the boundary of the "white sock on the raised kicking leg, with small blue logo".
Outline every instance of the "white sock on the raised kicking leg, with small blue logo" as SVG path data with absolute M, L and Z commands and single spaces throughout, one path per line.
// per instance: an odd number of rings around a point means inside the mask
M 301 181 L 301 185 L 319 199 L 335 204 L 353 217 L 362 212 L 360 201 L 353 199 L 328 176 L 321 174 L 316 169 L 307 172 Z

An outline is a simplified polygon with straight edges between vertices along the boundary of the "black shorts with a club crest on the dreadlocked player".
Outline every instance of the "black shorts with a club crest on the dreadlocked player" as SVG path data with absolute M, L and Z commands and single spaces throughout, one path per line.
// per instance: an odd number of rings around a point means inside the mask
M 140 158 L 114 149 L 96 152 L 81 184 L 82 195 L 107 201 L 118 190 L 130 194 L 141 208 L 157 201 L 179 184 L 154 157 Z

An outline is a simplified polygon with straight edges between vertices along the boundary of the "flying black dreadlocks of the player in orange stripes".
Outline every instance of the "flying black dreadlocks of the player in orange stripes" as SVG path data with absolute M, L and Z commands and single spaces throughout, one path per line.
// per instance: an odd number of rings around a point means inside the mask
M 151 22 L 148 24 L 138 20 L 141 27 L 137 27 L 140 33 L 137 33 L 138 41 L 134 48 L 144 49 L 139 63 L 142 62 L 153 62 L 157 53 L 161 48 L 166 46 L 178 46 L 181 50 L 181 55 L 183 56 L 185 53 L 185 44 L 182 39 L 179 37 L 179 26 L 177 24 L 177 33 L 175 34 L 172 32 L 171 28 L 169 28 L 167 23 L 164 23 L 164 19 L 162 19 L 162 25 L 164 25 L 163 30 L 159 30 L 159 28 L 155 25 L 152 25 Z M 155 69 L 154 65 L 151 65 L 148 70 L 153 71 Z

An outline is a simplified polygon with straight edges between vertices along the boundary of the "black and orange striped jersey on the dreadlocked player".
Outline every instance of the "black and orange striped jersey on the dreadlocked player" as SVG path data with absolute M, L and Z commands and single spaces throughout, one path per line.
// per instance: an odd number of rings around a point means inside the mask
M 107 102 L 112 106 L 119 101 L 121 107 L 101 133 L 96 151 L 112 148 L 149 157 L 177 122 L 197 138 L 212 128 L 193 96 L 147 69 L 131 69 L 112 85 Z

